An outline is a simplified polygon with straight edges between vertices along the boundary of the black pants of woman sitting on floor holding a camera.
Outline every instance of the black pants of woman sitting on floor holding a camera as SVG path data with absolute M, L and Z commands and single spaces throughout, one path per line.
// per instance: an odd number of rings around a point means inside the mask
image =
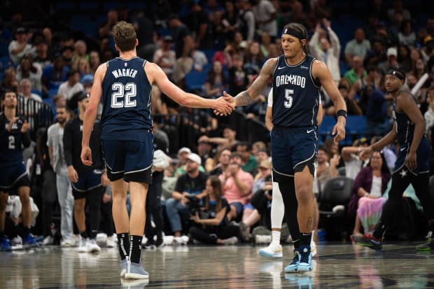
M 237 237 L 239 234 L 239 227 L 190 227 L 190 236 L 197 241 L 205 244 L 216 244 L 217 239 L 228 239 L 230 237 Z

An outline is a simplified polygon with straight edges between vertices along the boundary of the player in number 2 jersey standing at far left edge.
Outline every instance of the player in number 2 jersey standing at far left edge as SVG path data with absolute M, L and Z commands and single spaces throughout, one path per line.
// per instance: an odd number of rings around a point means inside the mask
M 22 204 L 22 245 L 38 246 L 30 234 L 30 182 L 22 162 L 22 145 L 30 145 L 29 122 L 16 116 L 17 94 L 12 91 L 1 96 L 0 113 L 0 251 L 10 251 L 9 241 L 4 235 L 6 204 L 10 193 L 20 196 Z

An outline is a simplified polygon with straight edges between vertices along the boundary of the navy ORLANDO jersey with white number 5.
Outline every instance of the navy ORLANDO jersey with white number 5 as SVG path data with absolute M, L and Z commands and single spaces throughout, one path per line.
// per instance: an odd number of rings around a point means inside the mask
M 314 59 L 308 55 L 300 64 L 291 66 L 285 55 L 278 58 L 273 73 L 273 125 L 316 126 L 321 85 L 312 78 Z

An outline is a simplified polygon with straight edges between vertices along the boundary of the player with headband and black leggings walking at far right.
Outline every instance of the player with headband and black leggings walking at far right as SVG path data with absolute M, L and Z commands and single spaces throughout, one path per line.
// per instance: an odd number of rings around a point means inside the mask
M 388 143 L 398 141 L 398 157 L 392 174 L 391 190 L 383 206 L 381 218 L 372 234 L 353 235 L 357 244 L 375 250 L 381 249 L 381 242 L 388 225 L 393 223 L 399 211 L 402 194 L 411 183 L 416 196 L 421 201 L 423 211 L 428 218 L 431 231 L 434 231 L 434 204 L 429 188 L 430 144 L 425 132 L 425 120 L 417 106 L 415 97 L 402 87 L 405 73 L 393 69 L 386 73 L 386 91 L 393 97 L 393 127 L 391 131 L 372 146 L 363 148 L 360 157 L 368 157 L 373 151 L 381 150 Z M 416 246 L 418 251 L 434 249 L 434 239 Z

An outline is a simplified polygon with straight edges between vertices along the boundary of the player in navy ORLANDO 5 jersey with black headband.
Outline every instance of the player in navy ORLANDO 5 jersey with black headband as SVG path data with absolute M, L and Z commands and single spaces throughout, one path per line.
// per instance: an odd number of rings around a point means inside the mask
M 345 137 L 344 99 L 327 66 L 308 54 L 306 41 L 307 31 L 302 24 L 287 24 L 281 36 L 283 55 L 268 59 L 251 87 L 230 99 L 233 106 L 250 104 L 265 88 L 269 78 L 273 78 L 273 181 L 279 183 L 287 218 L 297 216 L 297 220 L 287 220 L 295 255 L 293 262 L 285 267 L 285 272 L 312 269 L 312 181 L 318 149 L 316 115 L 320 105 L 321 85 L 336 107 L 337 124 L 332 130 L 335 141 L 341 141 Z M 225 92 L 224 95 L 228 96 Z

